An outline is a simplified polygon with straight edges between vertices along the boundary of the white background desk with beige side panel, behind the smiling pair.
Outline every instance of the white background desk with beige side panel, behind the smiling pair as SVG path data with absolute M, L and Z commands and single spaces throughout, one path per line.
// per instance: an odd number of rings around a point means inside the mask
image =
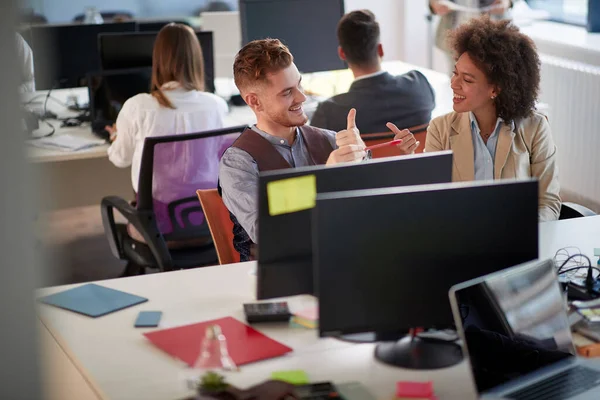
M 452 110 L 452 91 L 450 80 L 445 74 L 419 68 L 400 61 L 385 62 L 383 67 L 393 74 L 401 74 L 411 69 L 418 69 L 430 81 L 436 92 L 436 109 L 433 116 Z M 348 90 L 352 83 L 350 70 L 328 71 L 306 74 L 304 87 L 319 98 L 329 97 Z M 217 93 L 229 97 L 235 92 L 231 80 L 217 79 Z M 35 96 L 45 95 L 47 91 L 36 92 Z M 48 109 L 59 117 L 74 116 L 76 113 L 66 110 L 53 98 L 66 103 L 70 97 L 76 97 L 79 104 L 88 103 L 87 88 L 53 90 L 48 101 Z M 44 100 L 42 97 L 40 100 Z M 316 103 L 307 104 L 307 108 Z M 310 111 L 310 110 L 309 110 Z M 97 139 L 91 132 L 89 124 L 81 127 L 61 128 L 59 121 L 49 121 L 56 129 L 55 135 L 69 133 L 72 135 Z M 225 118 L 225 126 L 249 125 L 256 123 L 256 117 L 248 107 L 231 107 Z M 360 129 L 360 127 L 359 127 Z M 42 130 L 48 128 L 43 125 Z M 40 149 L 29 146 L 28 159 L 33 164 L 38 179 L 40 193 L 45 194 L 46 209 L 65 209 L 77 206 L 100 204 L 104 196 L 117 195 L 131 198 L 131 169 L 117 168 L 108 160 L 106 150 L 108 144 L 82 151 L 62 152 L 58 150 Z

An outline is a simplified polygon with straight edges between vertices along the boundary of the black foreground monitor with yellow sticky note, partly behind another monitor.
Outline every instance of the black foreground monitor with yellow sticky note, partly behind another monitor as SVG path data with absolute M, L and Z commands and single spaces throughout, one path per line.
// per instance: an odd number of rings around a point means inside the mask
M 271 182 L 306 175 L 315 175 L 317 193 L 451 182 L 452 152 L 262 173 L 258 188 L 258 299 L 314 293 L 310 210 L 270 215 L 267 193 Z M 345 218 L 354 221 L 368 218 L 370 213 L 365 209 Z

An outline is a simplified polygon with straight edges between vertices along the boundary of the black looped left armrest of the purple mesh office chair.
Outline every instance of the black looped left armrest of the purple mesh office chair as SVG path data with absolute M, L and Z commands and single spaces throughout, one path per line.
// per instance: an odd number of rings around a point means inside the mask
M 142 234 L 146 241 L 145 244 L 150 248 L 160 270 L 171 271 L 173 269 L 173 259 L 169 253 L 166 241 L 158 230 L 154 213 L 152 211 L 140 211 L 120 197 L 108 196 L 102 199 L 100 210 L 104 233 L 106 234 L 106 239 L 113 255 L 119 259 L 125 259 L 125 254 L 121 246 L 122 242 L 119 240 L 117 234 L 114 209 L 117 209 L 127 222 Z

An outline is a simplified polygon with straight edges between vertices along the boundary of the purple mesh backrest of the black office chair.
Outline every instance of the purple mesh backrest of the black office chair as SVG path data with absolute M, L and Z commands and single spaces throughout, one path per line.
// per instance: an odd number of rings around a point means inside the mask
M 186 241 L 210 235 L 196 190 L 216 189 L 219 161 L 245 128 L 146 138 L 137 208 L 154 212 L 165 240 Z

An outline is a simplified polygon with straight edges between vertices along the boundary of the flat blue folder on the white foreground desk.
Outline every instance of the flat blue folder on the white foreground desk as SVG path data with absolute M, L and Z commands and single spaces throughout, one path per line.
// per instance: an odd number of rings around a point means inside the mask
M 94 318 L 148 301 L 145 297 L 135 296 L 93 283 L 51 294 L 38 300 L 45 304 Z

